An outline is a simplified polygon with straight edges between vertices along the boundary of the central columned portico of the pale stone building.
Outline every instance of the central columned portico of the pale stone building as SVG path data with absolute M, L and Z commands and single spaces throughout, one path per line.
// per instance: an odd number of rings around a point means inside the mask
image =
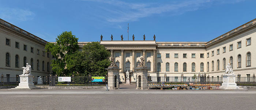
M 101 41 L 101 45 L 110 50 L 111 57 L 116 59 L 117 66 L 121 69 L 120 82 L 125 83 L 125 73 L 130 73 L 131 83 L 136 82 L 135 68 L 138 60 L 144 58 L 144 64 L 149 68 L 151 76 L 156 73 L 156 47 L 155 41 Z

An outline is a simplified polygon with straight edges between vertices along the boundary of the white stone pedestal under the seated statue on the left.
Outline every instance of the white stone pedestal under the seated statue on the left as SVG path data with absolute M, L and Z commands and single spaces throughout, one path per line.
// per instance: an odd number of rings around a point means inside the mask
M 33 76 L 31 74 L 22 74 L 19 75 L 20 83 L 19 86 L 11 88 L 10 90 L 30 90 L 30 89 L 40 89 L 36 87 L 33 83 Z

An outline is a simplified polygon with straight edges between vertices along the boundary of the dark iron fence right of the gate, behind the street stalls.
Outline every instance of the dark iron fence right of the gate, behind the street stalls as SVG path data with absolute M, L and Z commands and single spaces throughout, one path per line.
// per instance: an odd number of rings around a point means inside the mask
M 221 84 L 223 82 L 222 77 L 176 77 L 176 76 L 166 76 L 166 77 L 157 77 L 157 76 L 148 76 L 148 83 L 198 83 L 198 84 Z M 236 83 L 238 86 L 256 86 L 255 77 L 236 77 Z

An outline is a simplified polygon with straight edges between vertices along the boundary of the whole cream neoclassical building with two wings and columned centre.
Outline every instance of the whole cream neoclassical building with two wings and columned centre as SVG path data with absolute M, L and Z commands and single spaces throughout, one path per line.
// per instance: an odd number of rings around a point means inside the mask
M 33 62 L 32 72 L 37 75 L 47 76 L 51 72 L 48 62 L 52 57 L 44 52 L 45 40 L 2 19 L 0 27 L 1 41 L 4 42 L 1 43 L 0 54 L 3 62 L 0 64 L 0 71 L 3 74 L 19 74 L 18 70 L 21 70 L 25 61 Z M 131 73 L 131 81 L 135 82 L 135 68 L 141 57 L 145 60 L 150 76 L 193 76 L 206 73 L 220 77 L 229 63 L 237 76 L 252 76 L 256 72 L 256 45 L 252 42 L 254 38 L 256 19 L 208 42 L 157 42 L 152 38 L 142 41 L 101 40 L 100 44 L 116 59 L 121 69 L 120 82 L 124 82 L 124 73 L 127 71 Z M 16 47 L 17 42 L 19 48 Z M 88 42 L 79 42 L 80 49 L 86 43 Z

